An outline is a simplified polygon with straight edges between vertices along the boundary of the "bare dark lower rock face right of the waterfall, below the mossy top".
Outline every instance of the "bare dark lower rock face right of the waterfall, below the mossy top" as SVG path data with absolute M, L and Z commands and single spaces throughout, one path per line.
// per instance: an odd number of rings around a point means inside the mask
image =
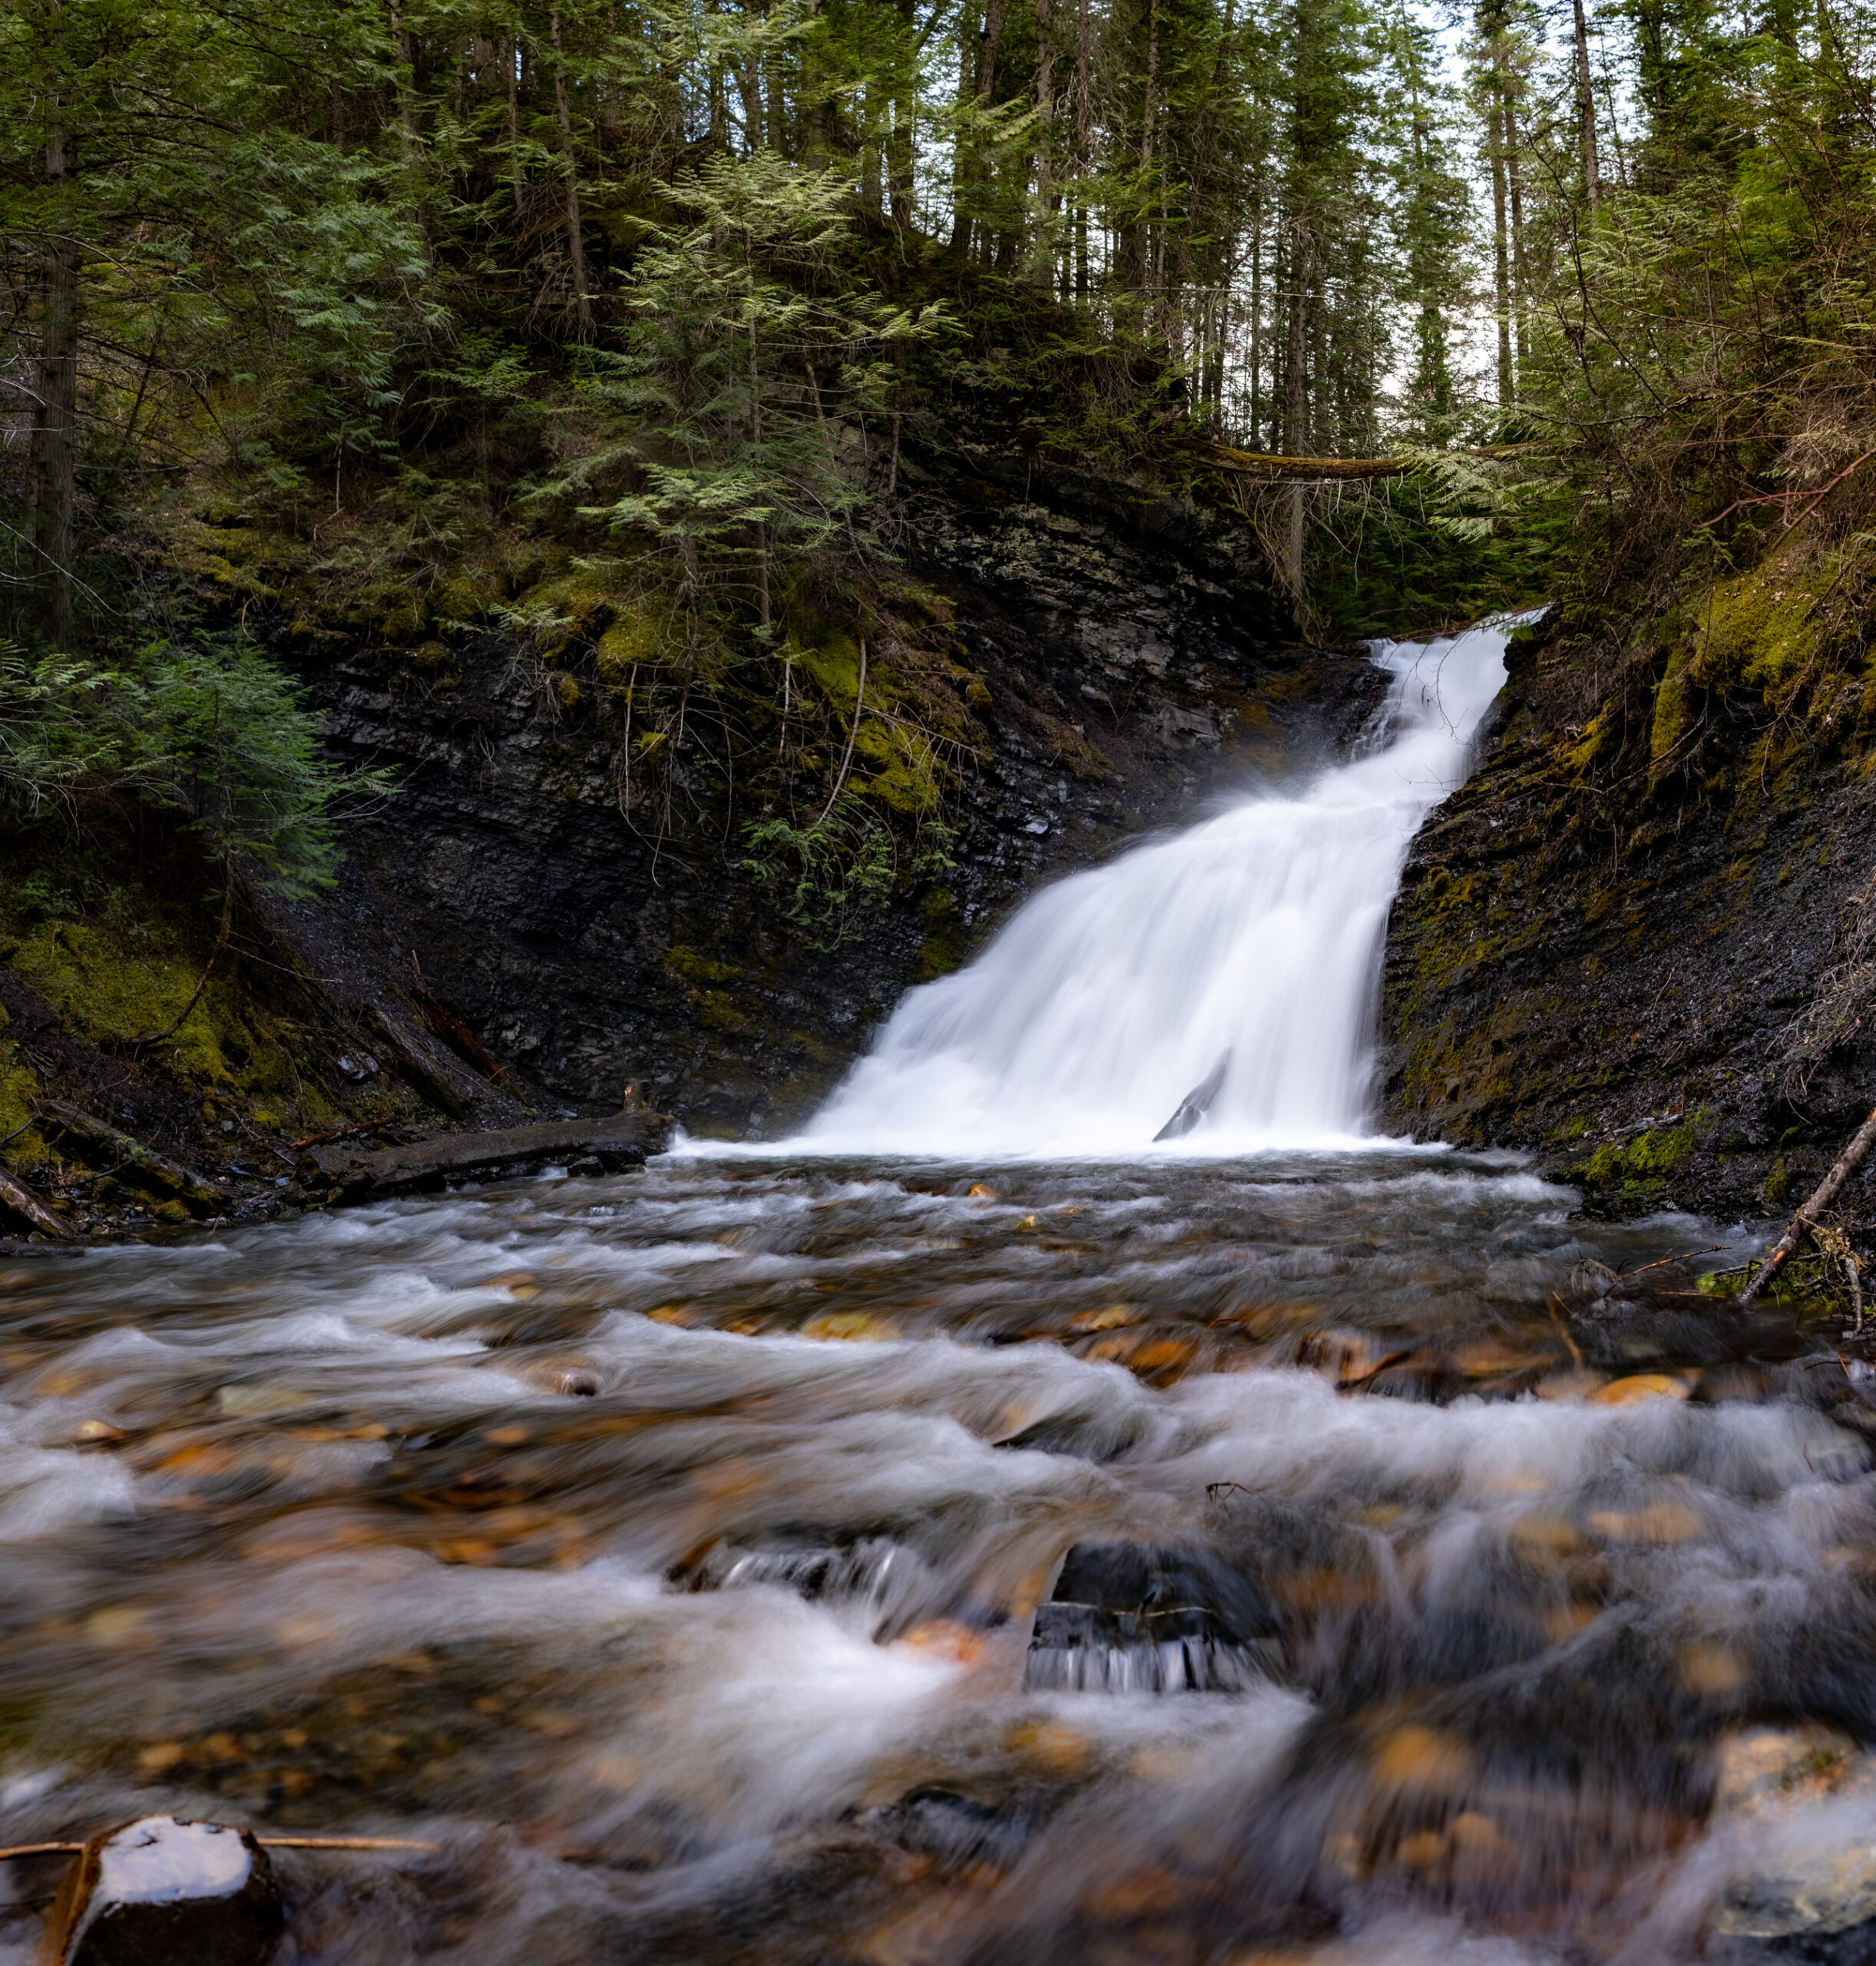
M 1699 792 L 1636 794 L 1612 845 L 1573 826 L 1585 794 L 1540 665 L 1518 659 L 1477 771 L 1408 857 L 1382 1125 L 1536 1150 L 1589 1213 L 1789 1209 L 1876 1099 L 1866 1038 L 1805 1083 L 1789 1070 L 1868 889 L 1870 788 L 1829 755 L 1760 771 L 1740 747 Z

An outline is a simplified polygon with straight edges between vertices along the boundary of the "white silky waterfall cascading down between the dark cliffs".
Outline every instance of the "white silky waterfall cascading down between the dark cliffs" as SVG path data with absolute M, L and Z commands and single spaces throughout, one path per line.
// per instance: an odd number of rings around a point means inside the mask
M 1227 1050 L 1188 1150 L 1353 1144 L 1400 865 L 1465 779 L 1512 625 L 1377 645 L 1394 688 L 1363 755 L 1044 889 L 907 993 L 794 1144 L 1139 1152 Z

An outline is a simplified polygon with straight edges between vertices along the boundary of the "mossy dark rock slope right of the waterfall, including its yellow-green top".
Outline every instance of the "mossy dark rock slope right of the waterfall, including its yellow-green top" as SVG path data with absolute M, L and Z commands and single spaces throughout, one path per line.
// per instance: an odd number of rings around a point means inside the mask
M 1536 1150 L 1595 1213 L 1748 1215 L 1868 1113 L 1862 549 L 1801 547 L 1687 582 L 1620 641 L 1569 613 L 1514 641 L 1394 904 L 1390 1127 Z

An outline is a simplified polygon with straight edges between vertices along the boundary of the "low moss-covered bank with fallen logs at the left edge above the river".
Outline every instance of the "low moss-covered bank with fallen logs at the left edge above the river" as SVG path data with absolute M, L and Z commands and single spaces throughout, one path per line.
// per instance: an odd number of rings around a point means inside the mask
M 0 847 L 0 1158 L 69 1235 L 264 1217 L 322 1195 L 303 1185 L 307 1134 L 517 1111 L 387 981 L 303 967 L 264 898 L 220 950 L 218 912 L 193 843 L 161 828 Z M 59 1103 L 199 1187 L 59 1125 Z

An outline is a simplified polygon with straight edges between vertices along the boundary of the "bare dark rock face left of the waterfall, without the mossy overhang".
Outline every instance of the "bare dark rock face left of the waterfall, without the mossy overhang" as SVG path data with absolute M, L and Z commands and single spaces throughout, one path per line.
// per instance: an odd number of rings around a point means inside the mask
M 661 847 L 627 824 L 616 739 L 557 722 L 511 641 L 440 692 L 395 651 L 309 674 L 336 747 L 403 794 L 348 830 L 334 940 L 372 946 L 549 1107 L 621 1087 L 694 1132 L 775 1134 L 901 991 L 966 959 L 1038 883 L 1349 737 L 1382 678 L 1288 623 L 1225 515 L 1137 507 L 1021 464 L 914 486 L 903 549 L 956 611 L 977 682 L 954 871 L 832 950 L 741 871 L 724 810 Z M 916 474 L 912 474 L 916 476 Z

